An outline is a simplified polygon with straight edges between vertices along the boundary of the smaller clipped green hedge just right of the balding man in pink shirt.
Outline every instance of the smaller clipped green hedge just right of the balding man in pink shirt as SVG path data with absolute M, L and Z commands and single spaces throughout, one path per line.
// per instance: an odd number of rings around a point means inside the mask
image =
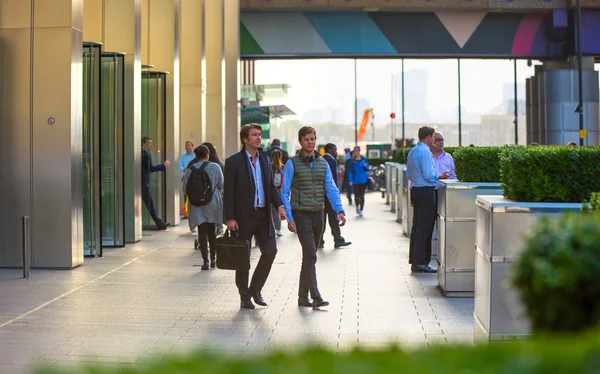
M 456 149 L 452 155 L 456 177 L 462 182 L 500 182 L 501 152 L 502 147 Z

